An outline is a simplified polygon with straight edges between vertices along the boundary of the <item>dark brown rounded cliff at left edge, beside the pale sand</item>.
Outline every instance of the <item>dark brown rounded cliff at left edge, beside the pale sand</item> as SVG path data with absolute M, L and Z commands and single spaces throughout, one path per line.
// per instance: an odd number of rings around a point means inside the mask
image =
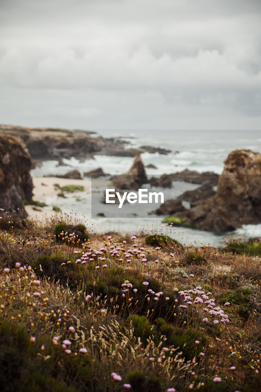
M 0 135 L 0 208 L 14 211 L 33 196 L 31 158 L 24 146 L 11 137 Z

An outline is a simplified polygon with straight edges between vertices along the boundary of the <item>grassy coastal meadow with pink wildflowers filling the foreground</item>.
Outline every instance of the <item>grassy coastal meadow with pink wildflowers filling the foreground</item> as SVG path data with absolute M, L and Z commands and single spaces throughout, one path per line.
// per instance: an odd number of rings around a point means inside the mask
M 261 388 L 260 253 L 4 219 L 1 390 Z

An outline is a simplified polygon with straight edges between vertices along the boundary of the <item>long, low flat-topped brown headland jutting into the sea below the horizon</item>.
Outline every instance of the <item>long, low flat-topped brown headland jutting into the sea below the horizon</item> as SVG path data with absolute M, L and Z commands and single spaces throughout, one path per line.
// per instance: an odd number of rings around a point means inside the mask
M 58 160 L 74 157 L 83 161 L 92 158 L 94 154 L 112 156 L 136 156 L 143 149 L 125 149 L 127 142 L 120 138 L 103 138 L 92 136 L 93 132 L 69 131 L 54 128 L 25 128 L 13 125 L 0 125 L 0 134 L 6 137 L 20 138 L 25 143 L 33 164 L 37 165 L 44 160 Z M 95 132 L 94 132 L 95 133 Z M 154 147 L 146 147 L 154 152 Z M 167 150 L 162 154 L 167 154 Z

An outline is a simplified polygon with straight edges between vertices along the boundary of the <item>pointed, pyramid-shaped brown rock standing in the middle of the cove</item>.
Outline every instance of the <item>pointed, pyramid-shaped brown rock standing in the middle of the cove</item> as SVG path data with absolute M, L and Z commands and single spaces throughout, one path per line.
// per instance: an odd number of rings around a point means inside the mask
M 111 180 L 118 189 L 137 190 L 142 184 L 147 183 L 148 178 L 140 154 L 136 155 L 134 163 L 127 173 L 113 176 L 111 177 Z

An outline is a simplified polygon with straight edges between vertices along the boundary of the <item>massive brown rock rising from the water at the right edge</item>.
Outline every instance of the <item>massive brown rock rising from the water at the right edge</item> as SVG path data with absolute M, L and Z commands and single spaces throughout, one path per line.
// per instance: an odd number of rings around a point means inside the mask
M 202 229 L 227 231 L 261 223 L 261 154 L 236 150 L 229 154 L 214 196 L 182 214 Z

